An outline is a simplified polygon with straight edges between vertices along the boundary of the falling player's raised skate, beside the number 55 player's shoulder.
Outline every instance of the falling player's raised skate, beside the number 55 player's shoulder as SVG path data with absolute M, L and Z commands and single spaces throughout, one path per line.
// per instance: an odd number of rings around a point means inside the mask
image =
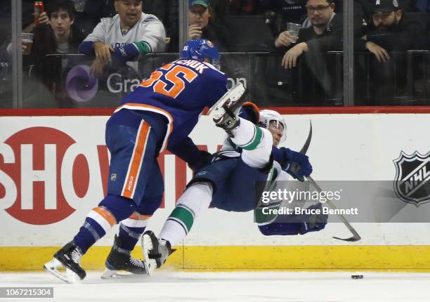
M 237 114 L 239 114 L 242 104 L 245 103 L 245 98 L 242 98 L 244 93 L 243 84 L 236 84 L 208 112 L 216 126 L 224 129 L 227 133 L 239 126 L 240 119 L 237 119 Z

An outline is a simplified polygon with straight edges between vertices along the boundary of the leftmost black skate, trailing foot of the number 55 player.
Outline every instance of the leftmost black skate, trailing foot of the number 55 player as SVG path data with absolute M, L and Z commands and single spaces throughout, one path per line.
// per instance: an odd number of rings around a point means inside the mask
M 64 282 L 79 282 L 86 276 L 85 270 L 79 265 L 81 257 L 82 251 L 71 241 L 54 254 L 53 260 L 44 265 L 44 270 Z M 58 268 L 65 268 L 65 273 L 61 273 Z

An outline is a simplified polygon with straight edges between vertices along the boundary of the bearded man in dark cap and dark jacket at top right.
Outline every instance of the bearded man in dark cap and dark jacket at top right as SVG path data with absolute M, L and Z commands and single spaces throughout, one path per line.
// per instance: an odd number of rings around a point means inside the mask
M 412 93 L 407 88 L 406 51 L 425 44 L 424 20 L 412 18 L 396 0 L 375 0 L 371 10 L 365 35 L 363 39 L 356 39 L 355 48 L 356 51 L 370 51 L 376 59 L 371 58 L 368 66 L 362 67 L 367 73 L 365 77 L 370 77 L 372 101 L 376 98 L 379 103 L 397 103 L 396 99 Z

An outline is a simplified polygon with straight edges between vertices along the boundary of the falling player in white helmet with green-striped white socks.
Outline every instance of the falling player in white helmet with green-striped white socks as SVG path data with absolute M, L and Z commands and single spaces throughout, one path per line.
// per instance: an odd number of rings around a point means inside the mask
M 311 174 L 312 166 L 306 155 L 285 147 L 277 148 L 280 140 L 285 138 L 286 129 L 284 119 L 278 112 L 262 110 L 258 114 L 255 106 L 245 104 L 244 108 L 244 116 L 254 122 L 241 117 L 235 119 L 235 114 L 229 116 L 224 112 L 219 114 L 220 117 L 214 117 L 217 126 L 229 134 L 223 150 L 190 181 L 164 223 L 160 239 L 150 230 L 143 235 L 143 256 L 148 272 L 166 261 L 171 247 L 181 242 L 190 231 L 194 219 L 209 206 L 225 211 L 251 211 L 256 206 L 256 192 L 259 190 L 254 181 L 287 180 L 285 170 L 298 179 Z M 241 152 L 236 152 L 237 147 Z M 292 163 L 296 163 L 299 169 L 292 171 Z M 314 204 L 311 208 L 318 209 L 320 206 Z M 327 215 L 291 217 L 289 223 L 273 218 L 262 222 L 259 230 L 263 235 L 303 235 L 322 230 L 326 223 Z

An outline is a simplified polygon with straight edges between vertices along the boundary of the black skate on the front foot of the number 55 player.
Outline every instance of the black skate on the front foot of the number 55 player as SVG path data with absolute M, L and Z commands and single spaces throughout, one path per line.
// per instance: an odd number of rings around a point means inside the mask
M 114 245 L 110 250 L 109 256 L 105 261 L 106 269 L 101 275 L 102 279 L 109 279 L 111 277 L 122 277 L 118 274 L 119 270 L 125 270 L 129 273 L 136 275 L 146 274 L 145 265 L 141 259 L 136 259 L 131 256 L 131 252 L 119 247 L 121 239 L 115 235 Z

